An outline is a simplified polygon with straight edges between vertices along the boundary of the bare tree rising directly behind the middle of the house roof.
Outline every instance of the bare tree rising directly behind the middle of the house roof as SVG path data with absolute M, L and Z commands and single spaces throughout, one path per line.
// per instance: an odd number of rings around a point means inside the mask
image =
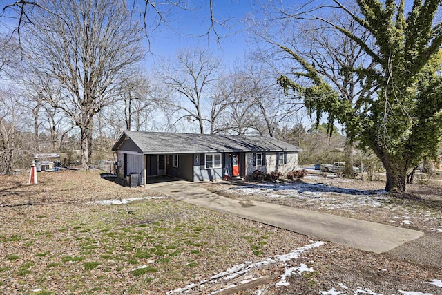
M 164 64 L 160 77 L 177 94 L 169 104 L 182 113 L 176 122 L 195 120 L 200 133 L 204 133 L 204 122 L 210 122 L 204 115 L 204 104 L 211 104 L 209 90 L 217 79 L 220 67 L 220 59 L 203 48 L 180 50 L 176 55 L 176 64 Z

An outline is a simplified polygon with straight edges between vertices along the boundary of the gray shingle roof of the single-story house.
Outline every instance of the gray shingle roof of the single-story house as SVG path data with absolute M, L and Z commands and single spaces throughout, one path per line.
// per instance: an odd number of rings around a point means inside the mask
M 113 151 L 119 148 L 126 137 L 144 154 L 300 151 L 297 146 L 273 137 L 139 131 L 124 131 L 114 144 Z

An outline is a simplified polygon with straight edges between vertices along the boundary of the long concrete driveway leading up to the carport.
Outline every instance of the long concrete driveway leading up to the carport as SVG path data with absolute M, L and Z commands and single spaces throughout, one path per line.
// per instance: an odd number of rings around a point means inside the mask
M 207 209 L 375 253 L 390 251 L 404 242 L 423 236 L 421 231 L 392 227 L 376 222 L 267 202 L 226 198 L 211 193 L 201 184 L 193 182 L 176 181 L 149 184 L 148 189 Z

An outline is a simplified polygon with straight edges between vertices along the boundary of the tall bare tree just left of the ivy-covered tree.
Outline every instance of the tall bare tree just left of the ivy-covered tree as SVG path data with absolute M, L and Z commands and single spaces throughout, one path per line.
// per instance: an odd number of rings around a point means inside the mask
M 298 11 L 305 11 L 307 6 L 294 6 L 294 8 Z M 364 75 L 358 75 L 356 69 L 363 65 L 371 68 L 372 61 L 356 41 L 345 34 L 336 35 L 333 30 L 322 23 L 284 21 L 284 17 L 282 19 L 280 17 L 288 11 L 291 10 L 281 8 L 275 2 L 265 6 L 267 21 L 250 19 L 253 37 L 260 47 L 256 53 L 261 59 L 269 61 L 280 77 L 290 77 L 294 81 L 309 85 L 307 81 L 309 73 L 305 71 L 302 63 L 293 57 L 292 53 L 296 53 L 307 63 L 307 66 L 311 66 L 325 82 L 333 87 L 333 91 L 338 93 L 341 101 L 353 106 L 353 112 L 344 114 L 344 111 L 341 111 L 343 116 L 350 119 L 339 122 L 343 124 L 347 137 L 344 145 L 346 154 L 344 173 L 352 177 L 354 176 L 352 146 L 355 138 L 354 132 L 358 126 L 354 126 L 356 121 L 351 120 L 351 117 L 361 106 L 363 99 L 376 91 L 376 88 L 370 84 L 372 81 L 366 79 Z M 334 20 L 338 26 L 347 28 L 363 42 L 368 42 L 371 38 L 366 28 L 345 13 L 336 13 Z M 268 58 L 270 56 L 271 58 Z M 320 101 L 320 98 L 317 97 L 316 100 Z M 309 102 L 305 103 L 309 104 Z M 319 124 L 321 112 L 310 111 L 310 114 L 316 115 L 316 124 Z M 328 119 L 328 132 L 332 133 L 336 116 L 331 115 Z

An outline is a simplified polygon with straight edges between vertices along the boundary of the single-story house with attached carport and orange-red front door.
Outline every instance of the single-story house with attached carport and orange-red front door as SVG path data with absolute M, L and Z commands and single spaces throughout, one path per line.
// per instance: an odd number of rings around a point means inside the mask
M 285 174 L 298 168 L 297 146 L 273 137 L 124 131 L 115 142 L 117 174 L 125 179 L 168 175 L 189 181 L 220 180 L 259 170 Z

